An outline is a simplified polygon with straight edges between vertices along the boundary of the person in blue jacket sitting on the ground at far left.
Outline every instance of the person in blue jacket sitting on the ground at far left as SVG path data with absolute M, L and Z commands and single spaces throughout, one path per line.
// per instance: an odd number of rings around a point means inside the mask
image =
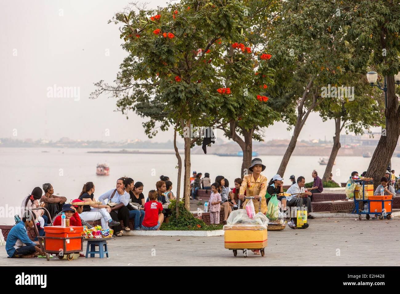
M 6 242 L 9 258 L 32 258 L 44 255 L 39 246 L 28 237 L 26 229 L 33 228 L 33 226 L 35 226 L 34 215 L 28 212 L 22 217 L 22 221 L 11 228 Z

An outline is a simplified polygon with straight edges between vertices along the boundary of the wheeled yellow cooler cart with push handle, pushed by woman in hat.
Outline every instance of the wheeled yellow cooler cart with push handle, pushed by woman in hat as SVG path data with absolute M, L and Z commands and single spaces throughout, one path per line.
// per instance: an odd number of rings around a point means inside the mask
M 245 197 L 244 199 L 255 199 L 254 197 Z M 261 211 L 261 197 L 258 200 Z M 238 203 L 240 207 L 240 200 Z M 233 255 L 237 256 L 238 250 L 243 250 L 244 257 L 248 256 L 248 250 L 260 250 L 261 256 L 264 256 L 264 248 L 268 244 L 268 232 L 266 226 L 224 226 L 224 244 L 225 248 L 232 250 Z

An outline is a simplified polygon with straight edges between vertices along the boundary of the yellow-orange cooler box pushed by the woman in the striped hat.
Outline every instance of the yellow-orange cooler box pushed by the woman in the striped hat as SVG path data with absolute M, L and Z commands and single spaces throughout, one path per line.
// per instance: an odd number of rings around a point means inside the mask
M 225 230 L 225 248 L 262 249 L 267 246 L 267 230 Z

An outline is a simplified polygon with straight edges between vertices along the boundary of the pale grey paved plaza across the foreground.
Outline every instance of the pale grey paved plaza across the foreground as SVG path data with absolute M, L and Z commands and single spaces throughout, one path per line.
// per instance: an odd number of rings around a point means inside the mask
M 268 232 L 265 256 L 234 257 L 224 237 L 124 236 L 108 242 L 109 258 L 6 258 L 0 266 L 395 266 L 400 263 L 400 217 L 392 220 L 316 218 L 310 227 Z M 377 254 L 383 248 L 384 254 Z M 86 242 L 84 242 L 86 250 Z M 383 252 L 382 250 L 380 252 Z M 98 255 L 96 255 L 98 256 Z

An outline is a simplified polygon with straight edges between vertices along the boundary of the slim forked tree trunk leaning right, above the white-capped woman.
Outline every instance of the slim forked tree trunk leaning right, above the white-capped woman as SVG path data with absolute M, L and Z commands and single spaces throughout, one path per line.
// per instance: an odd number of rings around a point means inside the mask
M 296 142 L 297 142 L 297 138 L 300 134 L 301 129 L 304 126 L 304 123 L 306 122 L 308 115 L 310 114 L 311 110 L 316 106 L 316 97 L 317 97 L 317 93 L 318 91 L 316 91 L 313 95 L 313 101 L 312 104 L 310 106 L 310 108 L 308 108 L 307 111 L 304 110 L 304 104 L 306 102 L 306 97 L 308 95 L 308 92 L 310 92 L 310 89 L 312 88 L 312 84 L 313 84 L 313 79 L 310 80 L 310 82 L 308 83 L 306 89 L 303 92 L 303 97 L 302 100 L 300 101 L 300 104 L 297 108 L 298 110 L 298 114 L 297 114 L 297 120 L 296 120 L 296 124 L 294 126 L 294 132 L 293 132 L 293 136 L 290 139 L 290 143 L 288 145 L 288 148 L 286 149 L 286 152 L 282 158 L 282 162 L 280 163 L 280 166 L 278 168 L 278 172 L 276 172 L 276 174 L 280 175 L 281 177 L 284 176 L 285 170 L 286 170 L 286 166 L 288 165 L 290 156 L 293 153 L 294 148 L 296 147 Z

